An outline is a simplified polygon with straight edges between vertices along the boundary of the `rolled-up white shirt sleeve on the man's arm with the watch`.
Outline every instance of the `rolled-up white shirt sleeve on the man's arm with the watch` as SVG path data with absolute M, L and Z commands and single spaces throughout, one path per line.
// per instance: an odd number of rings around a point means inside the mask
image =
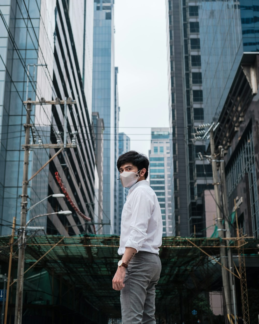
M 151 194 L 146 189 L 136 188 L 131 194 L 130 206 L 130 234 L 125 248 L 134 248 L 138 252 L 147 239 L 147 228 L 154 202 Z

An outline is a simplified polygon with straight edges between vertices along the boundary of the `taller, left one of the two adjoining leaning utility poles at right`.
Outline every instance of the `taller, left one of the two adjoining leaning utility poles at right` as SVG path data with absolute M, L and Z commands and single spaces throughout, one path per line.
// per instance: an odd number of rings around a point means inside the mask
M 214 183 L 214 191 L 215 191 L 215 200 L 216 200 L 216 211 L 217 211 L 217 226 L 218 226 L 218 232 L 219 237 L 224 237 L 224 229 L 222 224 L 222 214 L 220 211 L 220 196 L 219 196 L 219 184 L 220 181 L 218 181 L 218 170 L 217 170 L 217 159 L 215 154 L 215 144 L 214 144 L 214 134 L 213 129 L 210 130 L 210 152 L 211 152 L 211 165 L 212 165 L 212 175 L 213 175 L 213 183 Z M 223 244 L 223 242 L 221 243 Z M 220 260 L 222 265 L 224 265 L 225 268 L 228 266 L 227 262 L 227 255 L 226 255 L 226 248 L 221 247 L 220 248 Z M 230 323 L 232 323 L 233 315 L 232 315 L 232 305 L 231 305 L 231 294 L 230 294 L 230 283 L 229 283 L 229 276 L 228 271 L 221 267 L 221 273 L 222 273 L 222 283 L 224 288 L 224 297 L 226 301 L 226 310 L 227 310 L 227 318 Z

